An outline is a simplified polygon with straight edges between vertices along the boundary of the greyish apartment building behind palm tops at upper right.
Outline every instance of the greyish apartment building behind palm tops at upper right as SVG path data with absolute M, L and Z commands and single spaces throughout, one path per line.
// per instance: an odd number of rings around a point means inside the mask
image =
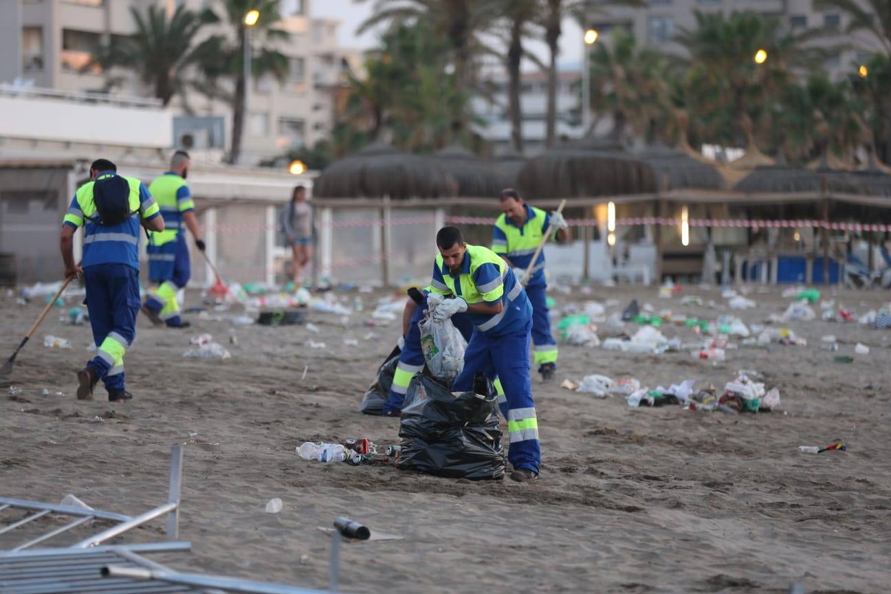
M 589 2 L 586 26 L 596 28 L 604 40 L 615 28 L 634 33 L 643 44 L 657 46 L 665 53 L 683 54 L 682 45 L 674 37 L 683 28 L 695 28 L 694 11 L 700 12 L 758 12 L 774 16 L 790 31 L 825 29 L 829 35 L 815 44 L 850 47 L 835 53 L 823 64 L 830 77 L 838 79 L 855 72 L 871 53 L 879 50 L 875 37 L 865 32 L 846 33 L 848 18 L 838 10 L 816 10 L 813 0 L 649 0 L 646 7 L 629 8 L 606 4 L 602 0 Z M 860 0 L 860 4 L 865 3 Z

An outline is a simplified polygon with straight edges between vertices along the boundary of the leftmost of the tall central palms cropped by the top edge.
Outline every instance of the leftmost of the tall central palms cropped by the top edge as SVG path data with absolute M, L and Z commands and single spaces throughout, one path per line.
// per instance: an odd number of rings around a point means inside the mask
M 485 3 L 486 0 L 374 0 L 372 17 L 365 20 L 356 33 L 361 34 L 384 23 L 390 28 L 424 23 L 432 33 L 448 40 L 457 94 L 464 95 L 476 83 L 475 58 L 490 53 L 480 38 L 489 20 Z M 466 111 L 453 112 L 451 126 L 456 134 L 467 130 L 469 118 Z

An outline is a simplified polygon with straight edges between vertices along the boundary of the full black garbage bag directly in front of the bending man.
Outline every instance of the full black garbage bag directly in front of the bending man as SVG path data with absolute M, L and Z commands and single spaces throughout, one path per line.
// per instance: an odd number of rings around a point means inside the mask
M 402 409 L 398 467 L 473 481 L 502 479 L 505 463 L 495 390 L 485 392 L 455 397 L 429 370 L 416 373 Z

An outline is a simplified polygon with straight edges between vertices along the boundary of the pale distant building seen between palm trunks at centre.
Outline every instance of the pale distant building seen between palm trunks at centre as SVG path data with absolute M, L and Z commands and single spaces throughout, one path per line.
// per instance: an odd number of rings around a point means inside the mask
M 561 70 L 557 79 L 556 133 L 560 138 L 582 134 L 579 113 L 580 70 Z M 477 132 L 489 142 L 495 155 L 511 151 L 511 118 L 508 111 L 507 73 L 503 69 L 484 72 L 487 94 L 471 99 L 471 110 L 483 122 Z M 544 151 L 547 139 L 548 77 L 541 71 L 524 72 L 520 81 L 523 110 L 523 152 L 532 157 Z

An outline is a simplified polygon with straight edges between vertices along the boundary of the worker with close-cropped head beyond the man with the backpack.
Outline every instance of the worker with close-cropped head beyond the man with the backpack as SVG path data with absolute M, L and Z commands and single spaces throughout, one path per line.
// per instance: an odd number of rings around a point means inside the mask
M 195 218 L 192 192 L 185 183 L 192 165 L 189 153 L 176 151 L 170 159 L 170 171 L 149 184 L 149 192 L 156 200 L 164 217 L 164 231 L 151 233 L 149 242 L 149 281 L 158 286 L 149 291 L 143 313 L 156 325 L 169 328 L 188 328 L 188 321 L 179 315 L 176 292 L 184 289 L 192 274 L 189 247 L 183 226 L 195 238 L 195 246 L 204 251 L 204 240 Z

